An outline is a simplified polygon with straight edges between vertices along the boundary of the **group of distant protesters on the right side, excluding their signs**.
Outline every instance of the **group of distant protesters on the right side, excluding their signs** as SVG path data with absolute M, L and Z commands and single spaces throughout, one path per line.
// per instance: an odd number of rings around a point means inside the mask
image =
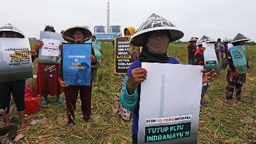
M 206 38 L 209 38 L 206 36 Z M 227 71 L 227 86 L 226 86 L 226 102 L 227 104 L 233 104 L 232 97 L 234 90 L 236 91 L 236 100 L 241 100 L 241 90 L 243 84 L 246 80 L 246 74 L 240 74 L 238 68 L 234 66 L 232 56 L 230 54 L 230 50 L 228 44 L 232 44 L 232 46 L 244 45 L 246 41 L 250 40 L 246 36 L 238 33 L 233 40 L 225 38 L 221 42 L 221 38 L 215 42 L 215 40 L 209 41 L 210 43 L 214 43 L 214 49 L 216 52 L 216 58 L 218 63 L 220 63 L 221 56 L 221 66 L 220 70 L 225 70 L 227 66 L 229 66 Z M 189 40 L 188 44 L 188 64 L 189 65 L 204 65 L 204 51 L 205 47 L 202 47 L 202 44 L 198 43 L 198 38 L 192 37 Z M 247 71 L 250 70 L 250 66 L 248 64 L 248 60 L 246 60 Z M 220 74 L 220 72 L 218 72 Z M 211 84 L 211 83 L 210 83 Z M 202 106 L 207 106 L 207 102 L 204 100 L 204 95 L 207 92 L 207 89 L 210 84 L 206 84 L 202 86 L 202 94 L 201 94 L 201 104 Z

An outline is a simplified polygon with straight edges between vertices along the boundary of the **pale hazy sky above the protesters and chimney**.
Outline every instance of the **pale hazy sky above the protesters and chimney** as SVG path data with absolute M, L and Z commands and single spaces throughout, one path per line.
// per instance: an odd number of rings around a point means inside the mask
M 0 26 L 11 23 L 26 37 L 37 37 L 45 24 L 56 32 L 71 26 L 106 26 L 108 0 L 8 0 L 0 4 Z M 138 28 L 152 13 L 184 32 L 182 40 L 234 38 L 237 33 L 256 41 L 256 0 L 110 0 L 110 26 Z

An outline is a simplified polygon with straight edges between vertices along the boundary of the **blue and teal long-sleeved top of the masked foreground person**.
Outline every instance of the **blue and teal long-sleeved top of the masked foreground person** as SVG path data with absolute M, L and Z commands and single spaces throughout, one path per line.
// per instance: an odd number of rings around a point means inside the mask
M 171 64 L 179 64 L 179 61 L 176 60 L 173 57 L 169 58 L 168 63 Z M 140 60 L 136 60 L 132 63 L 132 65 L 129 67 L 127 74 L 125 76 L 125 84 L 123 87 L 123 91 L 120 95 L 120 102 L 122 104 L 122 106 L 129 110 L 132 111 L 132 133 L 133 134 L 138 134 L 138 122 L 139 122 L 139 109 L 140 109 L 140 84 L 138 86 L 135 87 L 134 89 L 134 93 L 132 93 L 131 95 L 129 95 L 129 93 L 127 92 L 127 81 L 129 79 L 129 76 L 131 74 L 131 71 L 134 68 L 139 68 L 141 67 L 141 61 Z

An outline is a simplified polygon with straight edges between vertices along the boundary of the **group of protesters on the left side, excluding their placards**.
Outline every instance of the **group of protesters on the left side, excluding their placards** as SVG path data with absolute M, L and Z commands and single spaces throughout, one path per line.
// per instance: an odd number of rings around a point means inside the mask
M 52 26 L 46 26 L 44 31 L 50 31 L 55 33 Z M 0 28 L 1 38 L 24 38 L 24 34 L 11 24 L 7 24 Z M 88 41 L 91 38 L 90 41 Z M 100 63 L 100 55 L 102 50 L 100 44 L 95 40 L 96 37 L 92 36 L 90 30 L 75 26 L 63 31 L 63 39 L 65 42 L 82 44 L 86 41 L 92 43 L 92 53 L 90 54 L 90 60 L 92 61 L 92 72 L 97 72 L 97 67 Z M 36 42 L 35 48 L 31 49 L 32 61 L 38 57 L 39 49 L 44 43 L 42 41 Z M 62 49 L 60 45 L 60 50 Z M 62 62 L 62 61 L 61 61 Z M 4 119 L 4 128 L 1 129 L 1 136 L 9 136 L 15 138 L 17 135 L 17 129 L 13 131 L 13 124 L 10 122 L 10 100 L 11 93 L 15 102 L 17 111 L 20 118 L 20 129 L 26 129 L 27 124 L 25 120 L 26 105 L 24 100 L 25 95 L 25 79 L 22 81 L 8 81 L 0 83 L 0 118 Z M 48 95 L 56 95 L 56 101 L 58 103 L 63 102 L 60 98 L 60 94 L 65 92 L 65 101 L 67 106 L 67 130 L 70 131 L 74 128 L 74 119 L 76 111 L 76 101 L 79 92 L 81 99 L 81 109 L 83 113 L 84 121 L 92 122 L 90 118 L 91 114 L 91 97 L 92 97 L 92 84 L 91 86 L 68 86 L 63 81 L 62 63 L 38 63 L 38 72 L 36 79 L 36 94 L 41 95 L 44 98 L 42 104 L 48 104 Z M 3 132 L 3 133 L 2 133 Z

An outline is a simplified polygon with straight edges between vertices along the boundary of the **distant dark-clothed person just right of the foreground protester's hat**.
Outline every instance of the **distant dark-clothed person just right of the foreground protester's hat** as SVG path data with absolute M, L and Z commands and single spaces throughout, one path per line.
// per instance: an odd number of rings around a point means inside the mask
M 196 41 L 198 38 L 192 37 L 188 41 L 188 65 L 195 65 Z

